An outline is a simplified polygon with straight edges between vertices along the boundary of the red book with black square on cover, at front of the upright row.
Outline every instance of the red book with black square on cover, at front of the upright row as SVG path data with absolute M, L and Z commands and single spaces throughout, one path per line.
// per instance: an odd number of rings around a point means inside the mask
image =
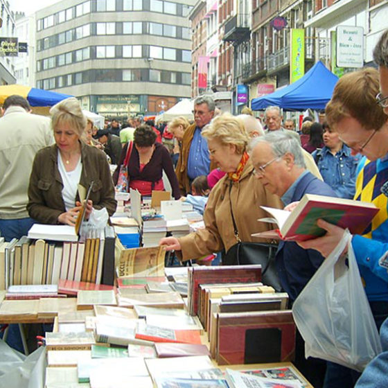
M 292 361 L 295 324 L 290 310 L 218 313 L 219 365 Z

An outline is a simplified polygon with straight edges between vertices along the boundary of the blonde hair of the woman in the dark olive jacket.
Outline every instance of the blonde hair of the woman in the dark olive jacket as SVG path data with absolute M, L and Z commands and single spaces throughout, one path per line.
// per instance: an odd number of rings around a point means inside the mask
M 51 126 L 55 130 L 61 123 L 69 124 L 83 138 L 87 119 L 82 113 L 80 102 L 75 97 L 65 98 L 50 109 Z

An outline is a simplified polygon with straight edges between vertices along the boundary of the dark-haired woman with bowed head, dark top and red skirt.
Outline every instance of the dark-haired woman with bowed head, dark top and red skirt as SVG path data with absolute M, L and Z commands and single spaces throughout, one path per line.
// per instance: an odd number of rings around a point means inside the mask
M 155 143 L 157 134 L 150 125 L 141 125 L 134 132 L 133 147 L 128 159 L 127 170 L 130 188 L 139 190 L 139 193 L 150 197 L 152 190 L 164 190 L 162 179 L 163 171 L 166 172 L 170 182 L 173 197 L 179 200 L 179 184 L 174 172 L 173 162 L 164 145 Z M 127 143 L 121 152 L 120 162 L 114 172 L 114 183 L 117 184 L 120 166 L 124 163 L 127 155 Z

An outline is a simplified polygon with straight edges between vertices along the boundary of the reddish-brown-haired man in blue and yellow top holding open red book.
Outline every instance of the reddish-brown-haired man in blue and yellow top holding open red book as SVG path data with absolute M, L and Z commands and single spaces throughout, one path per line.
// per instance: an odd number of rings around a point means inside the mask
M 382 95 L 388 95 L 387 37 L 388 33 L 385 32 L 373 52 L 380 66 L 381 93 L 378 71 L 366 68 L 340 78 L 326 105 L 326 118 L 330 127 L 351 148 L 352 155 L 363 155 L 357 168 L 354 199 L 373 202 L 380 208 L 364 233 L 355 234 L 352 238 L 364 290 L 378 328 L 388 317 L 388 274 L 379 265 L 379 259 L 386 256 L 388 251 L 388 200 L 381 192 L 388 174 L 388 107 L 387 100 L 382 99 Z M 326 234 L 303 242 L 301 246 L 317 249 L 328 256 L 342 239 L 344 229 L 324 220 L 318 220 L 317 225 L 325 229 Z M 329 381 L 327 387 L 353 387 L 359 376 L 351 369 L 339 365 L 330 366 L 330 369 L 337 376 L 346 378 L 349 385 L 333 385 Z M 379 386 L 386 387 L 387 384 Z

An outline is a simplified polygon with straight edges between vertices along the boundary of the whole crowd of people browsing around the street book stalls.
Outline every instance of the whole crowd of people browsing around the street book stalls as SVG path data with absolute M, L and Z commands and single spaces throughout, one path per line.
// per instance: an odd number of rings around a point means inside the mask
M 342 76 L 325 116 L 306 117 L 301 125 L 297 118 L 283 119 L 280 107 L 267 107 L 261 123 L 250 109 L 232 116 L 219 112 L 211 96 L 200 96 L 193 123 L 177 117 L 156 126 L 136 117 L 122 125 L 113 119 L 97 130 L 76 98 L 62 100 L 46 118 L 30 114 L 21 96 L 10 96 L 0 118 L 1 236 L 21 238 L 34 222 L 76 224 L 80 186 L 91 188 L 86 218 L 102 209 L 112 215 L 123 167 L 128 187 L 141 195 L 168 184 L 175 200 L 204 214 L 204 229 L 160 241 L 182 261 L 258 241 L 253 233 L 272 229 L 257 222 L 266 216 L 261 205 L 292 209 L 306 193 L 373 202 L 380 212 L 351 244 L 383 353 L 360 375 L 333 362 L 306 360 L 297 333 L 295 364 L 314 387 L 388 386 L 388 273 L 379 265 L 388 254 L 388 30 L 373 58 L 378 70 Z M 113 175 L 109 164 L 116 165 Z M 281 241 L 276 250 L 290 307 L 344 235 L 324 220 L 317 224 L 324 236 Z

